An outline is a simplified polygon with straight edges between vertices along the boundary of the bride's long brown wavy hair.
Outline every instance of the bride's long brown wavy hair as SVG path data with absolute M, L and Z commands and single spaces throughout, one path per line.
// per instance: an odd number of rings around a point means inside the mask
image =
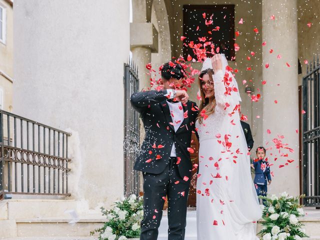
M 205 75 L 205 74 L 208 74 L 210 81 L 213 81 L 212 76 L 213 76 L 214 72 L 212 69 L 208 68 L 208 69 L 201 71 L 201 73 L 198 77 L 198 86 L 200 89 L 201 100 L 200 100 L 200 105 L 199 105 L 199 114 L 196 119 L 199 120 L 200 124 L 202 124 L 202 122 L 203 122 L 203 116 L 201 116 L 201 111 L 204 109 L 205 114 L 210 115 L 214 112 L 214 108 L 216 105 L 215 97 L 213 98 L 212 101 L 209 101 L 209 99 L 207 97 L 205 97 L 205 94 L 203 92 L 201 80 L 202 80 L 203 75 Z

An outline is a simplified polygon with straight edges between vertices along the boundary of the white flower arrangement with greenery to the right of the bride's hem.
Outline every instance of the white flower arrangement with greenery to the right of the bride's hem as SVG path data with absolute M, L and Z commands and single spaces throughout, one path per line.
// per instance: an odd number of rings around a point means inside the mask
M 258 233 L 262 240 L 298 240 L 308 237 L 305 234 L 304 225 L 297 217 L 303 216 L 302 205 L 299 205 L 299 197 L 288 196 L 282 192 L 279 196 L 261 197 L 266 202 L 263 208 L 263 228 Z

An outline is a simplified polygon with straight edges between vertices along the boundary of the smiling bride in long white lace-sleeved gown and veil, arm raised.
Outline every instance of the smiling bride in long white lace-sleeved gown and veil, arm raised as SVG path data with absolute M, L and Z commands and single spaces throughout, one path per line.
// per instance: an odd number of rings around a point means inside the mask
M 199 75 L 197 240 L 258 239 L 261 210 L 239 119 L 241 98 L 230 70 L 224 54 L 215 54 L 206 58 Z

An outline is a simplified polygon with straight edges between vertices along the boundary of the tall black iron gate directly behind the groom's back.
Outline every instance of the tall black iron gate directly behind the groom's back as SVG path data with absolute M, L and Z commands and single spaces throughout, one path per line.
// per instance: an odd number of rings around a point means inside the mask
M 124 64 L 124 195 L 139 193 L 139 173 L 133 170 L 140 141 L 138 113 L 130 104 L 130 96 L 139 90 L 137 68 L 132 62 Z

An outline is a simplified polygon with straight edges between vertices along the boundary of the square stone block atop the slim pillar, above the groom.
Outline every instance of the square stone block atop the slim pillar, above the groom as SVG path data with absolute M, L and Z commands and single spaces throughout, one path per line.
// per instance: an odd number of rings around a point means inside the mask
M 158 52 L 158 32 L 150 22 L 130 23 L 130 47 L 147 47 Z

